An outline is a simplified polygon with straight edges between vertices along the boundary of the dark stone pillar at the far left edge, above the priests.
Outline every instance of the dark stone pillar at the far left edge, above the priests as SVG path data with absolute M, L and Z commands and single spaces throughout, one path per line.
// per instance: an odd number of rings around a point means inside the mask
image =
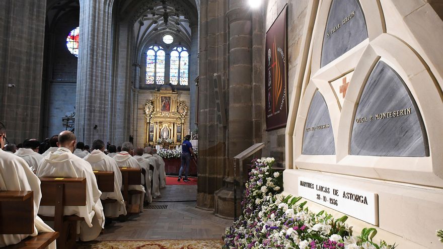
M 0 121 L 10 142 L 41 139 L 46 1 L 3 0 L 0 16 Z

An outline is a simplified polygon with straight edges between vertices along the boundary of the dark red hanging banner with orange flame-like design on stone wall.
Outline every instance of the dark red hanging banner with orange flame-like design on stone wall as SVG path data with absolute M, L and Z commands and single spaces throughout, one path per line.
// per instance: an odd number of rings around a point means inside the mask
M 266 32 L 265 107 L 266 131 L 287 123 L 286 9 Z

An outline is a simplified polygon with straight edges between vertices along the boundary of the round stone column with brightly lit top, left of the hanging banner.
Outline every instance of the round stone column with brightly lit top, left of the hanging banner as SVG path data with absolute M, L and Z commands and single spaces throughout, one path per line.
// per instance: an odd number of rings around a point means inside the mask
M 215 192 L 215 214 L 234 216 L 234 156 L 254 143 L 252 125 L 252 18 L 246 1 L 230 1 L 228 170 L 223 188 Z M 240 181 L 239 169 L 237 179 Z M 241 183 L 242 184 L 242 183 Z M 240 191 L 237 194 L 240 210 Z M 238 215 L 240 212 L 237 212 Z

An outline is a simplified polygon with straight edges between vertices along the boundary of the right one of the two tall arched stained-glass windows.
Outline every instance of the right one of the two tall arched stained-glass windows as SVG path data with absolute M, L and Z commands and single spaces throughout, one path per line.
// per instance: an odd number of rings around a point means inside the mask
M 188 86 L 189 53 L 186 48 L 175 47 L 171 51 L 169 69 L 169 82 L 171 85 Z

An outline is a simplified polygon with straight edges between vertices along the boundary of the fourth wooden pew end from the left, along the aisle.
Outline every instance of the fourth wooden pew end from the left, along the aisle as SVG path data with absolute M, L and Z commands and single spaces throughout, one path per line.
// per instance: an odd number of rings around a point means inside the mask
M 131 195 L 143 194 L 139 190 L 129 190 L 129 185 L 141 185 L 141 170 L 136 168 L 120 168 L 121 176 L 123 180 L 123 199 L 126 202 L 127 213 L 139 213 L 133 212 L 134 209 L 129 208 L 129 198 Z M 139 211 L 139 210 L 138 210 Z

